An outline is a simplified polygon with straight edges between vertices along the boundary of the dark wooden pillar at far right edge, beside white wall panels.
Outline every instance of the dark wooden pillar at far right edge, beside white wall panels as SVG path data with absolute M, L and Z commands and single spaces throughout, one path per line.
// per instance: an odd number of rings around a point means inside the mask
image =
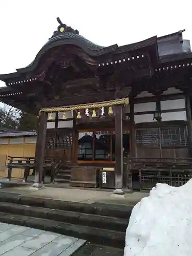
M 189 95 L 185 95 L 185 107 L 186 107 L 187 130 L 188 130 L 189 156 L 192 157 L 192 120 L 191 120 Z

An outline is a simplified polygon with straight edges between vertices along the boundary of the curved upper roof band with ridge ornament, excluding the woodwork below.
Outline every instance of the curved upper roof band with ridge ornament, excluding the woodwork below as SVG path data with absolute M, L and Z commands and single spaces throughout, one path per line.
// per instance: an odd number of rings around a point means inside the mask
M 25 80 L 25 74 L 27 72 L 34 71 L 37 68 L 37 65 L 42 55 L 44 55 L 50 49 L 63 45 L 76 46 L 92 58 L 96 58 L 104 54 L 121 54 L 124 52 L 135 51 L 148 46 L 151 47 L 153 45 L 155 49 L 155 58 L 159 59 L 157 48 L 157 36 L 125 46 L 118 47 L 118 45 L 115 44 L 112 46 L 104 47 L 96 45 L 87 38 L 84 38 L 83 36 L 79 35 L 79 32 L 77 30 L 74 30 L 71 27 L 68 27 L 66 24 L 61 23 L 59 18 L 57 18 L 57 21 L 59 23 L 57 31 L 53 33 L 51 38 L 49 38 L 46 44 L 40 49 L 35 59 L 25 68 L 16 69 L 16 72 L 14 73 L 0 75 L 0 80 L 6 81 L 7 79 L 14 79 L 18 77 L 21 78 L 20 80 Z

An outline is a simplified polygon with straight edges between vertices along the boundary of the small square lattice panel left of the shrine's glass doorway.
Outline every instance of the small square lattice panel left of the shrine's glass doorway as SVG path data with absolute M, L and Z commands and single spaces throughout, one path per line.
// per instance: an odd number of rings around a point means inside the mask
M 69 148 L 72 145 L 72 131 L 65 131 L 56 135 L 55 148 Z

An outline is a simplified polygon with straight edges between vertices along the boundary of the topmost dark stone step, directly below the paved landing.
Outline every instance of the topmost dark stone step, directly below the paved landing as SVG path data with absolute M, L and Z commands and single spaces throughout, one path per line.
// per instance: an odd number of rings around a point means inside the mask
M 0 194 L 0 202 L 14 203 L 19 205 L 29 205 L 42 208 L 59 209 L 66 211 L 81 212 L 84 214 L 108 216 L 129 220 L 133 206 L 125 205 L 100 205 L 85 204 L 79 202 L 67 202 L 46 198 L 32 198 L 7 193 Z M 1 203 L 0 203 L 1 209 Z

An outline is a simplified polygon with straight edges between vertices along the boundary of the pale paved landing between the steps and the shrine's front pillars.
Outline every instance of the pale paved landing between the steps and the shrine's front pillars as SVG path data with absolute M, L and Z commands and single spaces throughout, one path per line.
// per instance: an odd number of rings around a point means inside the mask
M 81 202 L 81 203 L 104 203 L 104 204 L 123 204 L 123 205 L 135 205 L 143 197 L 147 197 L 148 193 L 141 193 L 134 191 L 132 193 L 126 193 L 124 198 L 121 196 L 113 195 L 113 190 L 101 191 L 94 189 L 79 189 L 79 188 L 58 188 L 48 187 L 36 190 L 31 188 L 30 185 L 21 185 L 17 187 L 2 187 L 0 191 L 7 193 L 19 194 L 27 197 L 35 198 L 48 198 L 69 202 Z

